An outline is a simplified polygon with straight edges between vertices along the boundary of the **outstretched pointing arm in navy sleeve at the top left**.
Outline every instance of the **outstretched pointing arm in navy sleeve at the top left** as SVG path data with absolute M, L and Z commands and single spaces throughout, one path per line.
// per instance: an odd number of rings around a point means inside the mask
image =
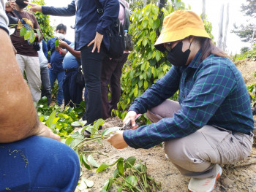
M 75 15 L 75 1 L 72 1 L 67 7 L 48 7 L 40 6 L 38 4 L 31 4 L 29 2 L 24 2 L 31 5 L 29 8 L 33 12 L 42 12 L 44 15 L 54 15 L 54 16 L 73 16 Z

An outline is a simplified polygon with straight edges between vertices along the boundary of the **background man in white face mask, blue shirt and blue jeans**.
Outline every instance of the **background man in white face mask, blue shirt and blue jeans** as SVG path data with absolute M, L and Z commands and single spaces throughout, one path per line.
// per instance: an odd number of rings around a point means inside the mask
M 56 37 L 53 37 L 49 39 L 47 43 L 48 50 L 50 50 L 50 58 L 48 60 L 48 68 L 49 68 L 49 76 L 50 76 L 50 87 L 53 88 L 54 82 L 58 80 L 58 94 L 57 94 L 57 104 L 61 105 L 63 101 L 63 78 L 65 75 L 64 69 L 63 69 L 63 59 L 64 56 L 62 55 L 64 50 L 56 50 L 55 42 L 58 39 L 61 39 L 64 42 L 67 42 L 69 45 L 71 42 L 69 40 L 65 39 L 64 36 L 67 33 L 67 26 L 64 24 L 59 24 L 56 27 Z

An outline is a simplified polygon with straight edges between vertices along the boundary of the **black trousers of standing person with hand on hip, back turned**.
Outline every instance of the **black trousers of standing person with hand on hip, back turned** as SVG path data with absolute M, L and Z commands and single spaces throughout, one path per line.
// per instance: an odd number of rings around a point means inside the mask
M 102 72 L 102 59 L 105 57 L 105 48 L 102 45 L 99 53 L 97 53 L 97 50 L 91 53 L 93 46 L 84 46 L 80 49 L 83 74 L 88 91 L 86 112 L 83 114 L 83 120 L 87 120 L 87 125 L 102 118 L 100 75 Z

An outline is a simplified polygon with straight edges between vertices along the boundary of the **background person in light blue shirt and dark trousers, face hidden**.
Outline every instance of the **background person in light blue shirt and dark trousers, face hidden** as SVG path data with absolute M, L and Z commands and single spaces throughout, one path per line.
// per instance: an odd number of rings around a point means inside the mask
M 70 45 L 67 42 L 59 40 L 59 47 L 57 50 L 64 48 L 66 50 L 63 60 L 63 69 L 65 70 L 65 76 L 63 80 L 63 93 L 64 93 L 64 105 L 69 104 L 70 107 L 76 107 L 83 101 L 83 85 L 77 82 L 78 67 L 80 66 L 80 51 L 74 50 L 75 42 Z M 79 62 L 79 63 L 78 63 Z M 85 98 L 87 90 L 85 88 Z

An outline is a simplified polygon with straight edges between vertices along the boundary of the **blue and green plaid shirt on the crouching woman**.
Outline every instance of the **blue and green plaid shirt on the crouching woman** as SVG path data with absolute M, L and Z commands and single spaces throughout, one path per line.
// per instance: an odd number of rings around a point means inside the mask
M 249 134 L 254 128 L 249 94 L 241 72 L 228 58 L 210 55 L 200 62 L 201 51 L 189 66 L 172 66 L 129 111 L 144 113 L 178 91 L 181 110 L 173 118 L 124 131 L 130 147 L 150 148 L 170 139 L 185 137 L 205 125 Z

